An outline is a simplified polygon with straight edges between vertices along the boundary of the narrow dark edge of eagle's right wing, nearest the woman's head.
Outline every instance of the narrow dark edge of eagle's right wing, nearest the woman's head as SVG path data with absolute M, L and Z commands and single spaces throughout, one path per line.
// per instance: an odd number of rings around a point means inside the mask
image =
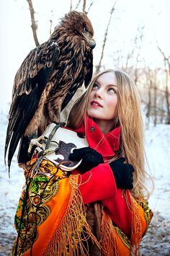
M 91 81 L 91 77 L 93 74 L 93 55 L 91 52 L 89 52 L 88 54 L 89 56 L 87 59 L 89 59 L 89 62 L 84 63 L 84 70 L 81 71 L 81 74 L 79 74 L 78 79 L 76 79 L 74 83 L 71 85 L 71 87 L 68 89 L 66 97 L 64 98 L 63 103 L 61 105 L 61 111 L 64 109 L 64 107 L 66 107 L 66 105 L 68 105 L 68 102 L 70 102 L 73 95 L 76 93 L 76 90 L 81 87 L 83 82 L 85 87 L 88 87 L 89 82 Z

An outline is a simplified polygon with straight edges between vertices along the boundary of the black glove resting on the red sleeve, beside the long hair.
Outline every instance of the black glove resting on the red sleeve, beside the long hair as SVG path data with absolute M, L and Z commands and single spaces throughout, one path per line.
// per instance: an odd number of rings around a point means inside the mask
M 117 188 L 129 190 L 133 189 L 133 172 L 135 169 L 132 164 L 126 164 L 125 157 L 120 157 L 120 159 L 115 160 L 110 163 L 109 166 L 112 169 L 113 175 L 115 177 L 115 182 Z

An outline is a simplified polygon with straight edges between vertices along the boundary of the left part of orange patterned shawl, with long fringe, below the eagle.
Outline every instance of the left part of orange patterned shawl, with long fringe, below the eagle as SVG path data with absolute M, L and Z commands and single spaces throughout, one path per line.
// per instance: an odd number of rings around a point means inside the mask
M 52 162 L 27 163 L 26 183 L 15 216 L 18 232 L 12 255 L 88 255 L 89 238 L 100 244 L 86 222 L 78 175 L 69 177 Z

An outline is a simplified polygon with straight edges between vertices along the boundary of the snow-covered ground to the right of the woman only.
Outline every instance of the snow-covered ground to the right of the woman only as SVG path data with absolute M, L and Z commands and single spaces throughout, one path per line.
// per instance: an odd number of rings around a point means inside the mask
M 141 255 L 170 255 L 170 125 L 146 130 L 146 154 L 155 188 L 149 200 L 154 216 Z

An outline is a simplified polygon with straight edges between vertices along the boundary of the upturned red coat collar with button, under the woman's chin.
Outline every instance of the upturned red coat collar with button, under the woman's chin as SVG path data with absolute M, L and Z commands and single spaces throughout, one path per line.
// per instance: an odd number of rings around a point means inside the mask
M 94 120 L 87 116 L 85 122 L 81 123 L 79 128 L 74 131 L 86 136 L 89 146 L 102 154 L 104 160 L 115 156 L 116 151 L 120 148 L 120 127 L 104 134 L 100 131 Z

